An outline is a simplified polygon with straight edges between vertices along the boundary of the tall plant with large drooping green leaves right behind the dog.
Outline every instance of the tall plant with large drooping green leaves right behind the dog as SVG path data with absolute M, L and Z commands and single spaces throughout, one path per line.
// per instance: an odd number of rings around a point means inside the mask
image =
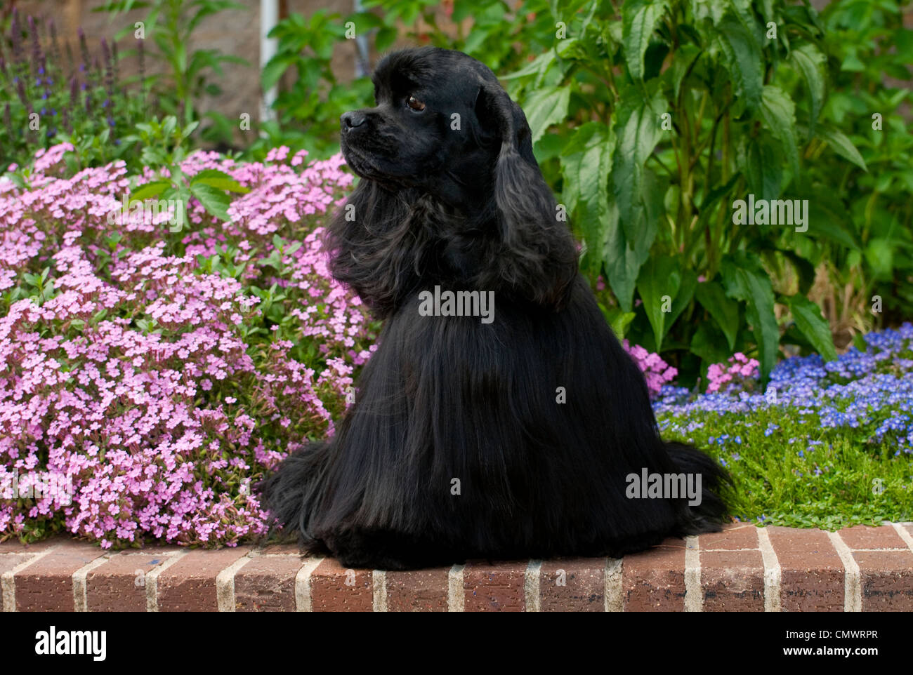
M 532 0 L 519 12 L 536 17 L 530 47 L 541 52 L 504 78 L 546 174 L 559 168 L 582 268 L 612 290 L 610 322 L 674 353 L 685 382 L 734 351 L 755 354 L 766 377 L 781 342 L 834 358 L 805 295 L 828 226 L 803 159 L 814 144 L 826 161 L 865 162 L 821 119 L 827 73 L 812 7 Z M 755 198 L 775 209 L 807 199 L 807 231 L 795 218 L 741 222 L 738 201 Z

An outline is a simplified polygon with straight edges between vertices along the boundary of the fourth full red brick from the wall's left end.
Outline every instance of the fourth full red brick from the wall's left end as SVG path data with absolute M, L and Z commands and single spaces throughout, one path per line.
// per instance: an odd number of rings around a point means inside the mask
M 294 612 L 295 576 L 301 556 L 257 556 L 235 574 L 239 612 Z

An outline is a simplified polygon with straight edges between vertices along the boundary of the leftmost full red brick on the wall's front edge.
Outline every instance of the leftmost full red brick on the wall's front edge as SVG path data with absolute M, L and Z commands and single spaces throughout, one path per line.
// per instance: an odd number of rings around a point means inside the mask
M 63 541 L 16 574 L 16 609 L 31 612 L 72 612 L 73 573 L 105 552 L 98 545 Z

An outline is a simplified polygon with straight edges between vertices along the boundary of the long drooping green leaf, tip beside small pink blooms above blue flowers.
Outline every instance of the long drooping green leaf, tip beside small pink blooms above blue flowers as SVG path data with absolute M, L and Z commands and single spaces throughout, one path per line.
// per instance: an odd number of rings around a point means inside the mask
M 773 313 L 771 278 L 754 254 L 737 251 L 724 257 L 720 265 L 726 295 L 745 303 L 745 316 L 758 345 L 761 378 L 766 379 L 777 361 L 780 327 Z

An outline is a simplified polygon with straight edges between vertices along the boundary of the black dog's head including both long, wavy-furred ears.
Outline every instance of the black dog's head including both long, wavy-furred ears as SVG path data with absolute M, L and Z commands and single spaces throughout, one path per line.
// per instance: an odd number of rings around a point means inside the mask
M 384 57 L 373 108 L 341 117 L 362 181 L 331 224 L 331 271 L 381 316 L 440 283 L 559 307 L 577 256 L 498 78 L 461 52 Z

